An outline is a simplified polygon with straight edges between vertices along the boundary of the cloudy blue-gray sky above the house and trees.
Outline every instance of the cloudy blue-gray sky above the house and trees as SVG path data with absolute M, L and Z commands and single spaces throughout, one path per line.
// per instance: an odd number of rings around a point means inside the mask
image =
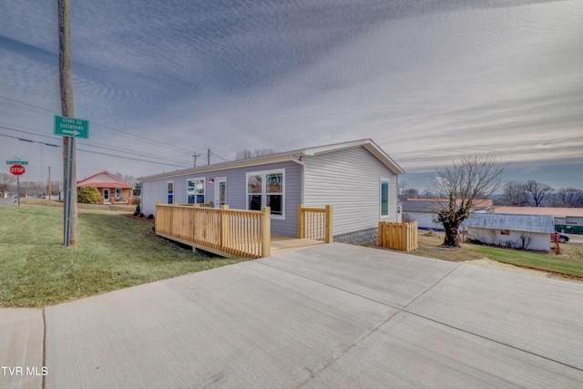
M 28 180 L 62 171 L 56 4 L 0 3 L 0 161 Z M 581 20 L 581 0 L 71 0 L 77 178 L 373 138 L 418 189 L 474 153 L 583 189 Z

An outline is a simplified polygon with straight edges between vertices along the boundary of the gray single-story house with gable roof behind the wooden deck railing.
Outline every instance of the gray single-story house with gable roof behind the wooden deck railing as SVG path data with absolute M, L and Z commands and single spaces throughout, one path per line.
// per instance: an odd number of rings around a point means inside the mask
M 296 236 L 299 204 L 333 207 L 334 241 L 376 240 L 379 220 L 397 220 L 404 170 L 371 139 L 241 159 L 140 178 L 141 209 L 156 202 L 271 207 L 271 232 Z

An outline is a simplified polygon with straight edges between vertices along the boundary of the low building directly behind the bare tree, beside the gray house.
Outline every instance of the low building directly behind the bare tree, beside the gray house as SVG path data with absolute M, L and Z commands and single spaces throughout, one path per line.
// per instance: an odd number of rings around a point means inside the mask
M 446 199 L 410 199 L 403 201 L 403 213 L 410 220 L 417 222 L 417 226 L 422 230 L 444 230 L 444 226 L 437 219 L 437 212 L 447 207 L 449 200 Z M 461 205 L 457 200 L 456 205 Z M 492 200 L 476 200 L 472 212 L 485 213 L 492 212 L 494 203 Z

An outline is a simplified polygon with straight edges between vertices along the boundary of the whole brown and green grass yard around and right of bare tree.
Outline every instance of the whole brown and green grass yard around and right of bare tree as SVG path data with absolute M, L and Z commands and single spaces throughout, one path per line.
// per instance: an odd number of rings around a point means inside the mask
M 501 249 L 464 243 L 462 249 L 443 249 L 444 233 L 419 230 L 418 249 L 411 254 L 424 257 L 438 258 L 445 261 L 473 261 L 487 258 L 492 261 L 509 263 L 526 268 L 552 271 L 565 274 L 568 277 L 577 277 L 583 280 L 583 245 L 577 243 L 561 244 L 561 254 L 552 252 L 537 252 Z M 554 247 L 554 244 L 551 244 Z

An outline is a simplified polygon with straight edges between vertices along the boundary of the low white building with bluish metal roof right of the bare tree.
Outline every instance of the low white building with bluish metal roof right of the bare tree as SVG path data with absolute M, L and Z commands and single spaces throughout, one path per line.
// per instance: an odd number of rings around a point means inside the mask
M 471 241 L 533 251 L 549 251 L 555 230 L 552 216 L 544 215 L 474 213 L 464 225 Z

